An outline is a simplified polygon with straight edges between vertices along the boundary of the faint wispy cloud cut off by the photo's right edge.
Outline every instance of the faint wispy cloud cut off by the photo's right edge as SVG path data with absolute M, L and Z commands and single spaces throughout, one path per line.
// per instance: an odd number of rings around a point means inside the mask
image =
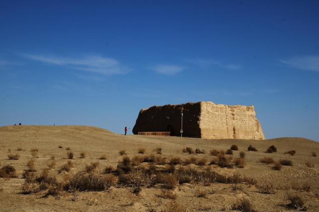
M 280 62 L 296 69 L 319 71 L 319 56 L 296 56 Z

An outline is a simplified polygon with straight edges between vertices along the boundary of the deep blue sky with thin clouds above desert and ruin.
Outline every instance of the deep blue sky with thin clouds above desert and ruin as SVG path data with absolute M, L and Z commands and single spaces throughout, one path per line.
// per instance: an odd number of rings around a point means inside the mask
M 122 133 L 141 108 L 254 105 L 319 141 L 319 1 L 1 1 L 0 125 Z

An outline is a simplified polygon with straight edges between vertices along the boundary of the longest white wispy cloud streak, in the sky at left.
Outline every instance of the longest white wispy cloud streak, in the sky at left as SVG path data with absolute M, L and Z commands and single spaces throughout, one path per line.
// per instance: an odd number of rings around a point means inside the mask
M 117 60 L 97 55 L 90 55 L 79 58 L 62 58 L 30 54 L 23 54 L 22 56 L 28 60 L 45 64 L 63 66 L 66 68 L 81 71 L 97 72 L 106 75 L 123 74 L 129 71 L 128 68 L 122 66 Z

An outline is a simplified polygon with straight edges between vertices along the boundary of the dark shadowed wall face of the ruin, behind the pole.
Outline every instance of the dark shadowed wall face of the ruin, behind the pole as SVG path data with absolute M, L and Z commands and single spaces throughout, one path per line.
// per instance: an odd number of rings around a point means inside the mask
M 136 124 L 133 128 L 133 134 L 138 134 L 138 132 L 170 131 L 171 135 L 179 136 L 181 130 L 182 107 L 184 135 L 200 138 L 200 102 L 180 105 L 153 106 L 147 109 L 142 109 L 138 114 Z

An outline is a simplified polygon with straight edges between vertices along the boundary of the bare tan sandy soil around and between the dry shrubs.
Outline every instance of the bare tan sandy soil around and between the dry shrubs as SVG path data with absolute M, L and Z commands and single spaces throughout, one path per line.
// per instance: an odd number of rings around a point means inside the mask
M 76 192 L 63 191 L 58 197 L 47 196 L 46 191 L 35 194 L 22 194 L 21 187 L 25 182 L 23 170 L 32 159 L 31 149 L 38 148 L 38 157 L 34 158 L 36 174 L 48 168 L 55 156 L 56 166 L 49 170 L 50 176 L 59 181 L 66 181 L 77 172 L 84 171 L 90 162 L 100 163 L 96 172 L 102 172 L 106 166 L 116 169 L 123 156 L 119 150 L 126 150 L 127 156 L 141 155 L 138 148 L 145 148 L 145 154 L 155 154 L 156 147 L 162 147 L 162 157 L 168 159 L 178 156 L 182 159 L 197 157 L 207 158 L 208 163 L 215 158 L 210 150 L 226 150 L 232 144 L 239 151 L 246 153 L 244 168 L 220 168 L 217 165 L 188 165 L 196 170 L 211 167 L 212 171 L 231 176 L 240 173 L 252 177 L 255 185 L 248 183 L 185 183 L 173 189 L 177 195 L 175 200 L 163 198 L 162 191 L 167 190 L 156 184 L 142 187 L 139 194 L 132 188 L 115 185 L 105 191 Z M 252 144 L 258 151 L 247 151 Z M 58 146 L 62 145 L 63 148 Z M 277 152 L 265 153 L 275 145 Z M 182 148 L 190 146 L 204 149 L 204 154 L 188 154 Z M 74 168 L 69 173 L 58 173 L 60 167 L 67 162 L 66 147 L 70 147 L 75 157 L 72 159 Z M 22 150 L 17 150 L 22 148 Z M 284 154 L 296 150 L 294 156 Z M 239 151 L 233 151 L 237 158 Z M 306 202 L 308 211 L 319 211 L 319 143 L 302 138 L 280 138 L 264 141 L 252 140 L 208 140 L 178 137 L 144 137 L 122 136 L 109 131 L 86 126 L 7 126 L 0 127 L 0 167 L 12 165 L 16 169 L 16 178 L 0 178 L 0 211 L 231 211 L 232 206 L 242 199 L 247 199 L 255 211 L 294 211 L 287 207 L 289 195 L 299 195 Z M 85 158 L 79 158 L 85 152 Z M 19 154 L 18 160 L 9 160 L 8 154 Z M 106 160 L 99 159 L 106 154 Z M 264 156 L 274 160 L 290 159 L 293 166 L 282 166 L 281 170 L 273 170 L 274 164 L 259 162 Z M 309 163 L 311 167 L 306 166 Z M 148 166 L 148 163 L 142 165 Z M 163 166 L 164 167 L 164 166 Z M 186 167 L 176 165 L 176 169 Z M 260 186 L 273 186 L 272 194 L 260 193 Z M 204 197 L 199 197 L 200 193 Z M 233 208 L 234 209 L 234 208 Z

